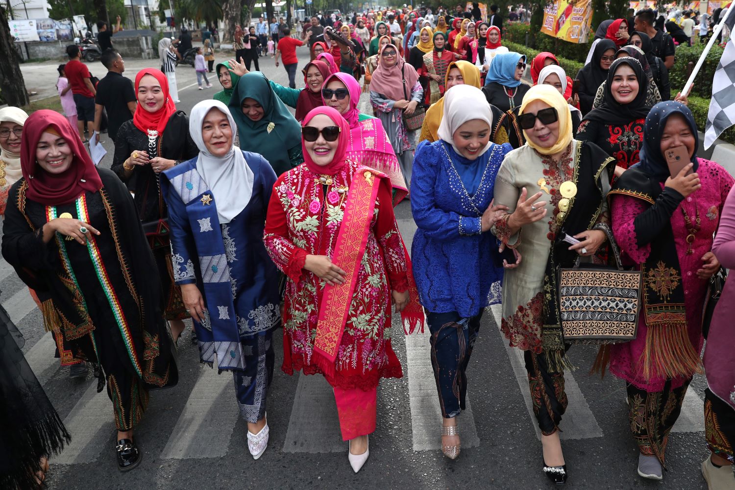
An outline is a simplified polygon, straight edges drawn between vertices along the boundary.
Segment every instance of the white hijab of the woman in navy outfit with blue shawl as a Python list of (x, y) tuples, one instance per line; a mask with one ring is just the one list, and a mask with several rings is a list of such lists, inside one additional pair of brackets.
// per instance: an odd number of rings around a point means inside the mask
[(250, 202), (253, 195), (254, 173), (240, 148), (234, 144), (229, 152), (222, 157), (212, 155), (204, 145), (201, 136), (201, 126), (210, 109), (219, 109), (229, 120), (232, 128), (232, 140), (237, 134), (237, 125), (230, 114), (227, 106), (220, 101), (201, 101), (189, 115), (189, 132), (194, 143), (199, 148), (199, 156), (196, 160), (196, 170), (207, 182), (212, 194), (215, 195), (217, 215), (220, 224), (229, 223), (232, 218), (239, 215)]

